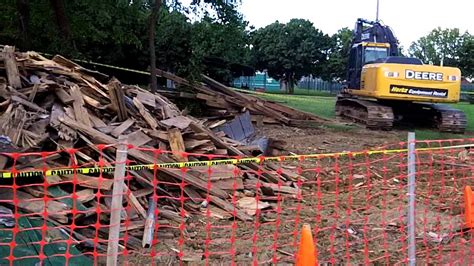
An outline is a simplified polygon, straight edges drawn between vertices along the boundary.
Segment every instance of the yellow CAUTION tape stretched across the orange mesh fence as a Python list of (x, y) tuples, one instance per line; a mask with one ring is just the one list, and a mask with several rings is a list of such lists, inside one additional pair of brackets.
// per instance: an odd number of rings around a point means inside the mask
[[(455, 145), (446, 147), (431, 147), (431, 148), (418, 148), (417, 152), (422, 151), (433, 151), (433, 150), (449, 150), (449, 149), (460, 149), (460, 148), (471, 148), (474, 144), (466, 145)], [(290, 156), (279, 156), (279, 157), (252, 157), (252, 158), (240, 158), (240, 159), (223, 159), (223, 160), (208, 160), (208, 161), (196, 161), (196, 162), (175, 162), (175, 163), (159, 163), (159, 164), (139, 164), (139, 165), (127, 165), (125, 168), (129, 171), (141, 171), (141, 170), (159, 170), (161, 169), (182, 169), (191, 167), (203, 167), (203, 166), (216, 166), (216, 165), (240, 165), (248, 163), (263, 163), (263, 162), (281, 162), (291, 160), (304, 160), (304, 159), (322, 159), (327, 157), (336, 156), (360, 156), (360, 155), (376, 155), (376, 154), (396, 154), (408, 152), (408, 149), (392, 149), (392, 150), (373, 150), (373, 151), (361, 151), (361, 152), (336, 152), (336, 153), (322, 153), (322, 154), (309, 154), (309, 155), (290, 155)], [(48, 170), (26, 170), (26, 171), (6, 171), (0, 172), (0, 178), (22, 178), (22, 177), (41, 177), (41, 176), (63, 176), (63, 175), (74, 175), (74, 174), (107, 174), (113, 173), (115, 167), (75, 167), (75, 168), (58, 168)]]

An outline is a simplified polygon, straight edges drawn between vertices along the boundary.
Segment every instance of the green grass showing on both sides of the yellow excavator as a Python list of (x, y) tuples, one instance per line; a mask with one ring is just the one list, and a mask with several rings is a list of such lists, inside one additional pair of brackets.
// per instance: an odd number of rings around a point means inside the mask
[[(334, 105), (336, 98), (334, 96), (304, 96), (304, 95), (286, 95), (286, 94), (258, 94), (259, 97), (283, 103), (290, 107), (310, 112), (321, 117), (335, 118)], [(458, 103), (452, 105), (466, 113), (468, 118), (467, 132), (464, 135), (441, 133), (429, 129), (415, 129), (417, 139), (452, 139), (473, 137), (474, 134), (474, 105), (469, 103)]]

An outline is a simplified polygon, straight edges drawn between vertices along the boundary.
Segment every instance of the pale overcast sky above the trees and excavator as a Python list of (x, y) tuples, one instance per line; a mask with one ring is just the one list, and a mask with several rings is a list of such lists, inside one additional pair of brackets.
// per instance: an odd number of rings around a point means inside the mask
[[(255, 27), (275, 20), (311, 20), (328, 34), (353, 29), (357, 18), (375, 20), (377, 0), (243, 0), (245, 19)], [(474, 33), (474, 0), (380, 0), (380, 19), (405, 47), (433, 28), (460, 28)]]

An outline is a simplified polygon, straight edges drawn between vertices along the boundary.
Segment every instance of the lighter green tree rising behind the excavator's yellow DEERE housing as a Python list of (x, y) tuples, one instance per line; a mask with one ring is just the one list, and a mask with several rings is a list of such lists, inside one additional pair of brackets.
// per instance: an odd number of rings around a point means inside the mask
[(456, 28), (441, 29), (438, 27), (427, 36), (412, 43), (409, 53), (425, 63), (440, 65), (443, 62), (443, 65), (458, 66), (460, 49), (469, 36), (469, 33), (461, 34)]

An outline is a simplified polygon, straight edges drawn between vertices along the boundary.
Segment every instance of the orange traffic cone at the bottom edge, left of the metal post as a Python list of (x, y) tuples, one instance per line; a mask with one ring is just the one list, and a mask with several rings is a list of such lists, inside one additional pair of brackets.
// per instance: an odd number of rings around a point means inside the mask
[(316, 258), (316, 246), (311, 234), (311, 226), (304, 224), (301, 230), (300, 246), (296, 254), (296, 266), (314, 266), (318, 264)]

